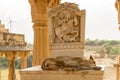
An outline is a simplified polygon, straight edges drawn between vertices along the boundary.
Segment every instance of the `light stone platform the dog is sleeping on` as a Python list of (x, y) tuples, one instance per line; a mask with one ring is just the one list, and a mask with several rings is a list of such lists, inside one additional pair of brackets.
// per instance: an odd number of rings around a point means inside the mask
[(101, 70), (48, 71), (40, 66), (20, 70), (20, 80), (103, 80), (104, 67)]

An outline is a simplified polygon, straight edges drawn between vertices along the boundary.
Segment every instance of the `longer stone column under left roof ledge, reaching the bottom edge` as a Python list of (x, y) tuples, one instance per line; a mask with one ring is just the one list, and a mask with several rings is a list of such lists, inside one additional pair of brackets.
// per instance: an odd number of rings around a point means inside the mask
[(16, 52), (8, 51), (5, 53), (5, 55), (8, 60), (8, 68), (9, 68), (8, 80), (16, 80), (15, 66), (14, 66), (14, 59), (16, 56)]

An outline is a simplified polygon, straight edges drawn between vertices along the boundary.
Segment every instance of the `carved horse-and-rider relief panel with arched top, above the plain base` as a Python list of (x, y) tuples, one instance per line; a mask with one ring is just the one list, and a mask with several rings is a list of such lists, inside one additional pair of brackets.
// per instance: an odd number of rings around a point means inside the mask
[(81, 11), (77, 4), (63, 3), (48, 13), (50, 43), (81, 41)]

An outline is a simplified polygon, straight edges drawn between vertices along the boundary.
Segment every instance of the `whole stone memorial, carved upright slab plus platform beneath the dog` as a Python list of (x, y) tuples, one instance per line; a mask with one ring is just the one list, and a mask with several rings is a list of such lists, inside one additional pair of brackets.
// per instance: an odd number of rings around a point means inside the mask
[[(51, 57), (83, 57), (85, 10), (74, 3), (63, 3), (47, 11)], [(50, 63), (54, 67), (55, 64)], [(103, 73), (104, 68), (65, 71), (42, 70), (41, 66), (35, 66), (20, 70), (20, 77), (21, 80), (103, 80)]]

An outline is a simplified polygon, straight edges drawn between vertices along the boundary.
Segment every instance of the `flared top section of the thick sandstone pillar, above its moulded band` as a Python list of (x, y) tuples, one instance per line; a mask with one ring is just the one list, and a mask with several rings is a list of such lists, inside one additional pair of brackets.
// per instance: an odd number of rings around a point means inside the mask
[(31, 4), (32, 21), (35, 24), (47, 21), (47, 0), (29, 0)]

